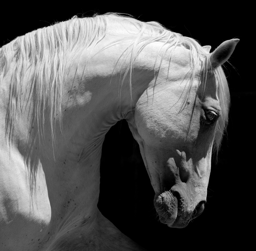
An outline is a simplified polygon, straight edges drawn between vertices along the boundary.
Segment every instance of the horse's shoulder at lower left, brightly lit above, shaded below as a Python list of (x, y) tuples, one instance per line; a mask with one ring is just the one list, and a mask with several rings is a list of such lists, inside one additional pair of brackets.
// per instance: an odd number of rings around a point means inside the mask
[(43, 172), (38, 168), (31, 194), (28, 170), (19, 151), (5, 144), (0, 151), (0, 250), (34, 250), (33, 243), (41, 238), (51, 218)]

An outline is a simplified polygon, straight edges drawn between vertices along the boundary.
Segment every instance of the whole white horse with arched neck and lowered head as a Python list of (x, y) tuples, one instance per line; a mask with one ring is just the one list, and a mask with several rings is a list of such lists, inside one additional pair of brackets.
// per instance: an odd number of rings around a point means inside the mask
[[(0, 49), (0, 249), (144, 250), (97, 208), (106, 132), (126, 119), (162, 223), (185, 227), (206, 201), (229, 90), (195, 40), (117, 14), (74, 17)], [(109, 195), (115, 205), (115, 191)]]

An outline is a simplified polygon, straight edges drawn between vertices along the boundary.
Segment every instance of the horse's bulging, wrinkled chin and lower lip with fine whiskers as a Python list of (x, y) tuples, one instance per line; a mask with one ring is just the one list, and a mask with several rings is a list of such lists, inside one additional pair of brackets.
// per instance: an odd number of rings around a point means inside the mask
[(154, 205), (159, 215), (159, 220), (169, 227), (183, 228), (188, 221), (182, 219), (179, 201), (170, 191), (165, 191), (160, 195), (155, 195)]

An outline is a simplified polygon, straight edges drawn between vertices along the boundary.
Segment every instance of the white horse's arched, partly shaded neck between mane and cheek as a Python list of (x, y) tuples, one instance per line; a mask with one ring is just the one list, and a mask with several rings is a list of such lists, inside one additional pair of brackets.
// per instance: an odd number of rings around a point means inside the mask
[[(148, 76), (154, 77), (153, 67), (150, 75), (148, 71), (144, 72), (145, 68), (141, 69), (142, 63), (138, 61), (133, 72), (132, 96), (129, 80), (120, 87), (123, 76), (115, 66), (123, 50), (118, 45), (103, 50), (92, 56), (86, 67), (88, 58), (85, 53), (85, 56), (77, 58), (78, 67), (74, 64), (70, 70), (63, 90), (62, 128), (57, 130), (54, 151), (49, 145), (48, 150), (45, 149), (47, 154), (44, 152), (42, 156), (46, 181), (49, 180), (47, 188), (51, 205), (59, 201), (59, 207), (63, 208), (76, 197), (79, 201), (76, 207), (81, 204), (83, 214), (92, 213), (97, 205), (104, 136), (111, 126), (135, 107), (136, 100), (147, 88)], [(51, 136), (48, 137), (45, 141), (51, 142)], [(59, 211), (56, 208), (56, 215)]]

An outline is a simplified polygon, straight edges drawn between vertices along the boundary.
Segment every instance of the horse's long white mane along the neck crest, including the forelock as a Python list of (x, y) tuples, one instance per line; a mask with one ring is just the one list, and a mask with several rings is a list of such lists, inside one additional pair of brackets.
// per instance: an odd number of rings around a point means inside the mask
[[(124, 29), (111, 30), (109, 23), (121, 23)], [(21, 99), (24, 97), (22, 93), (25, 93), (25, 100), (33, 102), (34, 122), (37, 122), (38, 125), (44, 121), (45, 108), (50, 109), (52, 136), (54, 137), (54, 119), (57, 114), (61, 115), (62, 86), (70, 67), (74, 60), (81, 55), (81, 51), (90, 46), (94, 48), (106, 34), (119, 34), (119, 36), (116, 36), (114, 43), (106, 44), (105, 47), (130, 41), (130, 45), (125, 51), (129, 66), (124, 76), (124, 78), (130, 77), (130, 84), (134, 60), (143, 47), (156, 41), (162, 42), (163, 46), (167, 45), (162, 54), (163, 58), (168, 48), (185, 46), (191, 51), (191, 81), (187, 92), (189, 95), (196, 66), (202, 62), (202, 58), (206, 58), (205, 51), (196, 40), (165, 29), (157, 22), (145, 23), (117, 13), (85, 18), (74, 16), (65, 22), (27, 33), (1, 47), (0, 84), (4, 82), (7, 73), (11, 76), (6, 130), (9, 128), (11, 132), (15, 129), (15, 118), (18, 115), (17, 112), (22, 111), (23, 100)], [(209, 66), (209, 60), (205, 60), (202, 64), (204, 74), (211, 70)], [(29, 83), (24, 79), (28, 72)], [(222, 68), (218, 67), (212, 72), (219, 83), (218, 92), (222, 110), (215, 134), (215, 149), (218, 150), (227, 125), (230, 98)], [(122, 83), (121, 81), (120, 84)]]

